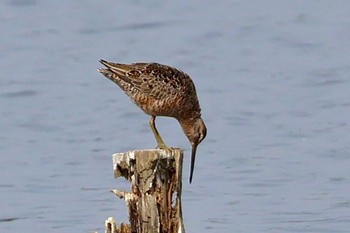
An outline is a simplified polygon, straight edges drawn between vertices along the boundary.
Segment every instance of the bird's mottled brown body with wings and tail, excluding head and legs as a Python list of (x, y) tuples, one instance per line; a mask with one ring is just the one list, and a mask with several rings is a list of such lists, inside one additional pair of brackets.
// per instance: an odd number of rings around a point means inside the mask
[(175, 118), (200, 115), (193, 81), (181, 70), (158, 63), (101, 63), (106, 68), (99, 71), (147, 114)]

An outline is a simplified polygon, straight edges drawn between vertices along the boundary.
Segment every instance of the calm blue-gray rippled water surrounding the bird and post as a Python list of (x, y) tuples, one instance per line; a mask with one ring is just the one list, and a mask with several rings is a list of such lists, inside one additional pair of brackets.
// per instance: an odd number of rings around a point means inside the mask
[(103, 232), (127, 221), (111, 155), (153, 148), (104, 58), (189, 73), (208, 127), (187, 232), (347, 233), (349, 1), (0, 2), (0, 232)]

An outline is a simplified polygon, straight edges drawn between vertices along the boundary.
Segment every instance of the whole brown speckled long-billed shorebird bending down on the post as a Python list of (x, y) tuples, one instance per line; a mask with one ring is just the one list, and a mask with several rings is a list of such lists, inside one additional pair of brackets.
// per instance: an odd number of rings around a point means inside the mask
[(178, 120), (191, 146), (189, 182), (192, 183), (197, 146), (207, 135), (195, 85), (183, 71), (159, 63), (120, 64), (100, 60), (97, 69), (117, 84), (130, 99), (150, 115), (149, 125), (159, 149), (170, 150), (160, 136), (155, 119), (158, 116)]

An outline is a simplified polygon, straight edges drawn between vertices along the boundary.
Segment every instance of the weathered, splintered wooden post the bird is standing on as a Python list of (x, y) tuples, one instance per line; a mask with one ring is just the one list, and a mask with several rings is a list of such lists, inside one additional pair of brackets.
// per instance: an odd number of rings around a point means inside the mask
[(185, 233), (182, 210), (181, 149), (135, 150), (113, 155), (114, 177), (131, 182), (131, 191), (112, 190), (129, 208), (130, 224), (105, 223), (106, 233)]

